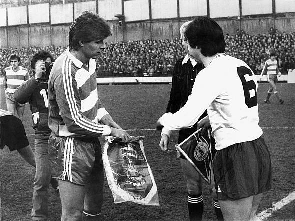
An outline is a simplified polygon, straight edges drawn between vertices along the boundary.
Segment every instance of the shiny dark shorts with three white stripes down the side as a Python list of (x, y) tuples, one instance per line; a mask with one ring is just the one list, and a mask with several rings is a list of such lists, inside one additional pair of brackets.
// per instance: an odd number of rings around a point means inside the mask
[(48, 143), (53, 178), (78, 185), (99, 180), (103, 162), (98, 138), (62, 137), (51, 133)]

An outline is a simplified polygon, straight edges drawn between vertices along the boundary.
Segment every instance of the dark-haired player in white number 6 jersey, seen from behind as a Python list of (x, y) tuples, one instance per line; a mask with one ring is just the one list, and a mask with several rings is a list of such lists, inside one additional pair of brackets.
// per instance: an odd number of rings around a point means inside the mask
[(262, 193), (271, 188), (270, 154), (258, 125), (255, 75), (245, 62), (224, 53), (223, 31), (213, 19), (196, 18), (185, 36), (188, 53), (206, 68), (196, 76), (186, 104), (174, 114), (165, 113), (157, 127), (192, 127), (207, 109), (217, 149), (215, 189), (224, 220), (254, 220)]

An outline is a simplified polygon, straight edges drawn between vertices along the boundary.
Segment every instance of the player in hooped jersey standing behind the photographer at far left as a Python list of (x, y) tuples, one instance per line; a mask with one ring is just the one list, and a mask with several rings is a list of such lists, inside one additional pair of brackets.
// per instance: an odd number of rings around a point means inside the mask
[(4, 69), (4, 92), (6, 97), (7, 110), (18, 116), (23, 122), (25, 104), (20, 104), (14, 99), (14, 93), (18, 86), (29, 79), (27, 69), (20, 66), (21, 59), (18, 55), (12, 54), (8, 58), (11, 66)]

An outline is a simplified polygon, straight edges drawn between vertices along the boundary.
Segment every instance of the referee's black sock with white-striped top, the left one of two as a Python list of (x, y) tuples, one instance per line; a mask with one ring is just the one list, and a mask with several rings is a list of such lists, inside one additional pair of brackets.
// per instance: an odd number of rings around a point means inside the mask
[(188, 214), (190, 221), (201, 221), (204, 211), (203, 193), (187, 196)]

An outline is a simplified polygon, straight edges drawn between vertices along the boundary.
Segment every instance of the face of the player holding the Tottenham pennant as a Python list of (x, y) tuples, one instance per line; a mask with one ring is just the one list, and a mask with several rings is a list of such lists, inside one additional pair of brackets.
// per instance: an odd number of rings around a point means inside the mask
[(82, 53), (88, 59), (98, 58), (105, 48), (104, 40), (95, 40), (83, 44)]

